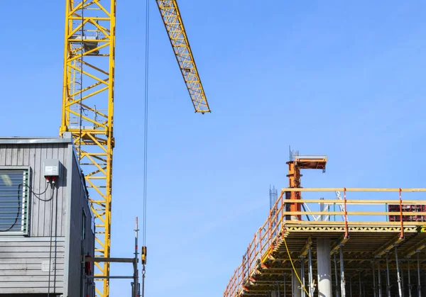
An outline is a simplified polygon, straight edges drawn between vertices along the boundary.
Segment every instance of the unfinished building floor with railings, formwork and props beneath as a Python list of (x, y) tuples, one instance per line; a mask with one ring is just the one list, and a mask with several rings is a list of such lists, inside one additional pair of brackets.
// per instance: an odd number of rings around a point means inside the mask
[[(286, 199), (293, 191), (300, 198)], [(421, 296), (426, 286), (425, 191), (282, 189), (224, 297)], [(329, 275), (318, 276), (318, 240), (329, 246)], [(331, 282), (328, 295), (318, 290), (324, 277)]]

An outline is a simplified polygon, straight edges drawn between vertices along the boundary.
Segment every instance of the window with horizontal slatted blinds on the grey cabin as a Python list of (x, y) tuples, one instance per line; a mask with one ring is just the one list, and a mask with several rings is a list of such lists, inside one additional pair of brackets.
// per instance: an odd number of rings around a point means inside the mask
[(0, 169), (0, 235), (28, 234), (28, 169)]

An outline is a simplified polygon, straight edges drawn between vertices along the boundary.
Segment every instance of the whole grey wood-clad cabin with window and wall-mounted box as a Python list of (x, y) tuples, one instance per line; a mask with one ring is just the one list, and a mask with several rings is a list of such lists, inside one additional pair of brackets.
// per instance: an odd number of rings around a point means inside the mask
[(94, 225), (72, 139), (0, 138), (0, 297), (93, 297), (83, 254)]

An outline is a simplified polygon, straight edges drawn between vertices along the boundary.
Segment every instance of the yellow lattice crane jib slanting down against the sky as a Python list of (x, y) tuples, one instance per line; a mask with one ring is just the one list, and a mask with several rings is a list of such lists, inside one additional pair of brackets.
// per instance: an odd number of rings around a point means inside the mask
[(192, 56), (190, 43), (180, 16), (178, 3), (175, 0), (156, 0), (156, 2), (163, 17), (165, 30), (167, 30), (176, 60), (178, 60), (180, 72), (182, 72), (183, 79), (194, 104), (195, 112), (210, 112), (209, 103), (207, 103), (197, 66)]

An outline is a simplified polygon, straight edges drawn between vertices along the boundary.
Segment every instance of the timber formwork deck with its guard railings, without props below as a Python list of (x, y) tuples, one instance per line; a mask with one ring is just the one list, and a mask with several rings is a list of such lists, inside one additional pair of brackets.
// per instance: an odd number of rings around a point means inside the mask
[[(337, 188), (340, 189), (340, 188)], [(345, 199), (342, 200), (324, 200), (324, 199), (285, 199), (286, 191), (311, 191), (311, 189), (286, 188), (281, 192), (280, 197), (269, 212), (268, 219), (255, 233), (253, 240), (249, 244), (247, 252), (244, 254), (242, 264), (234, 271), (234, 275), (229, 280), (228, 286), (224, 291), (224, 297), (234, 296), (263, 296), (267, 293), (269, 286), (279, 281), (278, 276), (282, 276), (285, 271), (290, 272), (293, 268), (290, 261), (295, 263), (298, 257), (305, 257), (312, 245), (312, 237), (329, 237), (334, 242), (335, 252), (340, 253), (341, 261), (341, 282), (344, 288), (344, 278), (346, 272), (358, 273), (360, 267), (371, 271), (371, 262), (377, 258), (383, 257), (398, 245), (398, 254), (400, 257), (407, 257), (417, 249), (425, 247), (426, 233), (421, 232), (426, 222), (404, 221), (405, 215), (412, 215), (410, 212), (400, 212), (400, 222), (366, 221), (362, 218), (371, 215), (373, 212), (347, 211), (348, 205), (364, 204), (386, 206), (388, 203), (398, 201), (400, 206), (404, 204), (425, 204), (425, 200), (403, 201), (400, 195), (395, 195), (394, 199), (388, 200), (346, 200), (347, 189), (343, 188)], [(318, 191), (319, 189), (315, 189)], [(381, 189), (350, 189), (350, 191), (373, 191)], [(332, 189), (320, 189), (320, 191), (335, 191)], [(426, 189), (383, 189), (384, 192), (424, 192)], [(398, 196), (398, 197), (396, 197)], [(398, 199), (398, 200), (397, 200)], [(344, 203), (344, 211), (335, 212), (337, 215), (343, 215), (346, 221), (302, 221), (286, 220), (288, 214), (305, 215), (306, 213), (325, 215), (325, 211), (291, 211), (287, 203)], [(386, 216), (388, 211), (376, 211), (376, 215)], [(393, 213), (394, 214), (394, 213)], [(420, 213), (424, 215), (423, 213)], [(348, 216), (353, 215), (349, 221)], [(403, 223), (401, 223), (403, 222)], [(401, 236), (403, 235), (403, 236)], [(415, 247), (416, 250), (413, 249)], [(288, 254), (288, 251), (290, 254)], [(395, 254), (398, 256), (398, 254)], [(291, 259), (290, 259), (291, 255)], [(344, 264), (343, 264), (344, 259)], [(407, 269), (409, 265), (386, 263), (390, 269)], [(421, 267), (425, 267), (422, 260)], [(366, 264), (365, 264), (366, 263)], [(300, 267), (299, 267), (300, 268)], [(297, 268), (297, 270), (299, 269)], [(378, 269), (385, 268), (378, 264)], [(346, 270), (346, 272), (343, 271)], [(365, 272), (365, 271), (364, 271)], [(364, 274), (363, 274), (364, 275)], [(349, 277), (350, 279), (350, 277)], [(343, 280), (343, 282), (342, 282)], [(366, 280), (367, 282), (369, 280)], [(370, 291), (369, 286), (364, 284), (363, 290)], [(367, 287), (366, 287), (367, 286)], [(283, 286), (282, 286), (283, 287)], [(284, 288), (283, 288), (284, 289)], [(357, 288), (355, 289), (357, 290)], [(344, 293), (342, 292), (342, 296)]]

